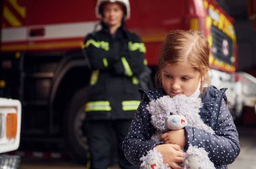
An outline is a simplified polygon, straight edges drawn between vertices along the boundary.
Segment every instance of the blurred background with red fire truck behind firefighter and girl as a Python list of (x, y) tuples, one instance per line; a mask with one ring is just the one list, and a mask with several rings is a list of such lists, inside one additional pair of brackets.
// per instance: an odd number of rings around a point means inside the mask
[[(256, 1), (130, 4), (127, 27), (146, 44), (152, 78), (170, 30), (205, 32), (211, 46), (212, 84), (228, 87), (228, 107), (240, 134), (241, 154), (229, 168), (256, 168)], [(91, 72), (81, 48), (86, 34), (97, 29), (95, 5), (96, 0), (0, 1), (0, 97), (22, 103), (20, 147), (5, 159), (18, 157), (19, 168), (90, 164), (84, 104)], [(143, 87), (153, 87), (152, 82)], [(115, 138), (113, 152), (110, 168), (117, 168)]]

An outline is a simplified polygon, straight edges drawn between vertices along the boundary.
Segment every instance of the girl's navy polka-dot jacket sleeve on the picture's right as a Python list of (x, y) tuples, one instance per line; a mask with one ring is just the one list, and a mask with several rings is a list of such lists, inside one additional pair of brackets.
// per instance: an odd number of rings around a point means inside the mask
[(220, 104), (215, 133), (210, 134), (195, 127), (185, 127), (187, 146), (198, 146), (208, 152), (208, 156), (216, 166), (234, 162), (240, 153), (238, 132), (232, 115), (222, 99)]

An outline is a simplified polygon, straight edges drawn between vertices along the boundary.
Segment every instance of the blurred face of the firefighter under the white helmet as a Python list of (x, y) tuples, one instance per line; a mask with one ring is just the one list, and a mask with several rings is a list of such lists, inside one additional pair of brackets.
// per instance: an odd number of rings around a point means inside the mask
[(103, 6), (103, 21), (109, 27), (120, 26), (123, 15), (123, 9), (118, 3), (106, 3)]

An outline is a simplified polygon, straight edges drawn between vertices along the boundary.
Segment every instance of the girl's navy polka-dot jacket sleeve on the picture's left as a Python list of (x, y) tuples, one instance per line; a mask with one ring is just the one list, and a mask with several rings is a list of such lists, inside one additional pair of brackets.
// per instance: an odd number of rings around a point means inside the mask
[(140, 166), (139, 158), (146, 156), (148, 151), (158, 144), (162, 144), (162, 142), (155, 142), (150, 139), (152, 125), (148, 116), (148, 110), (146, 110), (147, 102), (144, 98), (137, 109), (137, 113), (135, 113), (135, 118), (131, 123), (127, 137), (123, 141), (125, 157), (134, 166)]

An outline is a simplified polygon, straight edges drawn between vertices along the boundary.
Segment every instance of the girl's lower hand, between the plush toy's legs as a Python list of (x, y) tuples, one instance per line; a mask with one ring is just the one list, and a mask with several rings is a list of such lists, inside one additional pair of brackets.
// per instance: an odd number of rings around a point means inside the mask
[(162, 154), (164, 163), (168, 164), (172, 169), (181, 169), (178, 163), (183, 163), (185, 153), (177, 144), (161, 144), (155, 147)]

